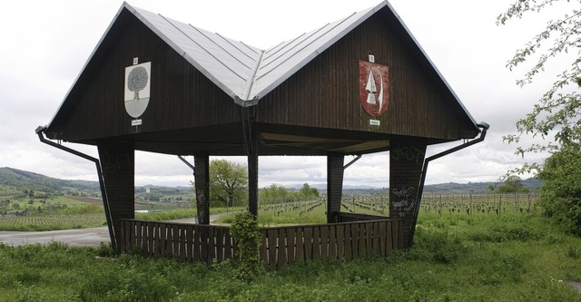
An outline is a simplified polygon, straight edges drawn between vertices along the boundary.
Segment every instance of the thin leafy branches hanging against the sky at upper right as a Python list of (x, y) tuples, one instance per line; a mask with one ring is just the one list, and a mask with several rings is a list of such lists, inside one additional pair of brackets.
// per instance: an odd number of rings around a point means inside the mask
[[(565, 0), (517, 0), (507, 9), (504, 14), (498, 15), (497, 24), (506, 24), (513, 18), (521, 18), (529, 12), (541, 12)], [(566, 1), (567, 3), (569, 1)], [(538, 33), (532, 41), (528, 42), (522, 49), (507, 63), (507, 68), (513, 70), (521, 63), (529, 60), (536, 60), (536, 64), (517, 81), (517, 84), (524, 86), (533, 82), (537, 73), (542, 72), (547, 62), (562, 54), (576, 54), (571, 59), (570, 67), (557, 75), (553, 86), (542, 95), (539, 101), (533, 106), (533, 110), (517, 121), (517, 133), (504, 137), (508, 143), (518, 143), (523, 135), (541, 137), (543, 139), (553, 137), (552, 141), (546, 143), (534, 143), (528, 147), (517, 147), (517, 154), (525, 156), (526, 153), (547, 151), (553, 153), (559, 151), (566, 145), (579, 146), (581, 142), (581, 120), (578, 114), (581, 112), (581, 95), (572, 90), (572, 86), (581, 85), (581, 63), (580, 49), (581, 36), (581, 10), (577, 2), (572, 5), (571, 12), (562, 18), (552, 20), (547, 23), (546, 29)], [(547, 43), (552, 45), (546, 51), (543, 47)], [(537, 54), (541, 52), (541, 54)], [(511, 172), (533, 172), (542, 170), (542, 164), (533, 162), (526, 163), (522, 167)]]

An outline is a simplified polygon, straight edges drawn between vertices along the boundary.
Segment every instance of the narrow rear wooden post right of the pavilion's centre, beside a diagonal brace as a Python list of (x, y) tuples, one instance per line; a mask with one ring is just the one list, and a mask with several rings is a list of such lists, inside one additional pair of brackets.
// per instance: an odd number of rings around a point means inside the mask
[(345, 155), (339, 153), (327, 155), (327, 223), (337, 222), (333, 212), (341, 209), (344, 159)]

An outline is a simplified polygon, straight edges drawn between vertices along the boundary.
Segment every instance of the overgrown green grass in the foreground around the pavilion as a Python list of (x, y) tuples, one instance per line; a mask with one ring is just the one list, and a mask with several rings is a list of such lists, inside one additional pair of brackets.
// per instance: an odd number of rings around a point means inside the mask
[(264, 268), (249, 284), (230, 261), (0, 244), (0, 301), (581, 301), (566, 284), (581, 281), (579, 247), (535, 215), (422, 213), (409, 251)]

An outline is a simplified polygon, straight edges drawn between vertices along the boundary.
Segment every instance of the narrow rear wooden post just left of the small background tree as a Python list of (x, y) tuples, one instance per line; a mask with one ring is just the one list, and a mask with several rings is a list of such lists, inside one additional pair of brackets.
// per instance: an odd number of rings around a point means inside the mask
[(193, 162), (198, 223), (210, 224), (210, 156), (208, 153), (195, 154)]

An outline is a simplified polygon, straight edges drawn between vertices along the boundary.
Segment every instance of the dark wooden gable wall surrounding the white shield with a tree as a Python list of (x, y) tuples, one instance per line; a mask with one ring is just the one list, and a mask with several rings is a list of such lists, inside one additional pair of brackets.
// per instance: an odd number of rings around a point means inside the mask
[[(123, 15), (124, 14), (124, 15)], [(58, 127), (65, 141), (91, 142), (135, 132), (159, 132), (240, 122), (240, 107), (161, 38), (123, 11), (109, 32), (115, 41), (99, 49), (90, 64), (94, 73), (81, 77), (83, 93), (71, 93), (72, 110)], [(123, 24), (123, 25), (122, 25)], [(151, 62), (151, 98), (139, 128), (125, 112), (125, 67)], [(76, 85), (74, 89), (76, 88)], [(49, 132), (51, 130), (49, 129)]]

